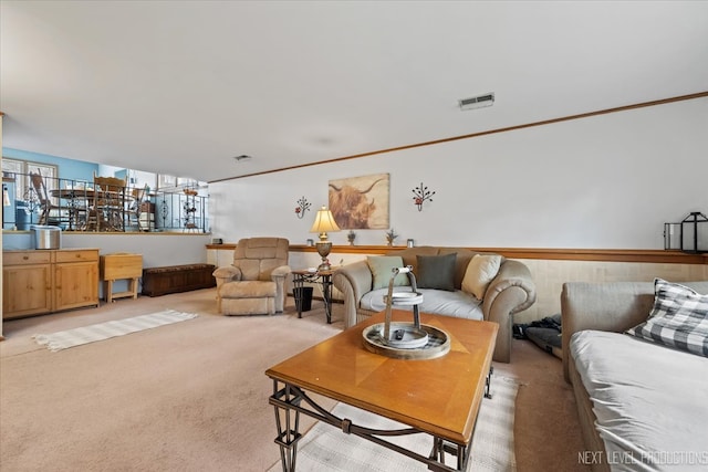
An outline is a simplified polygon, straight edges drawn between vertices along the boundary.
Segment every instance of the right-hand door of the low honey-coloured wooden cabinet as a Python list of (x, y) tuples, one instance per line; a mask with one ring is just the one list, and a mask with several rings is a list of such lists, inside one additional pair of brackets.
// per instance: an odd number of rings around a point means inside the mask
[(54, 310), (98, 306), (98, 262), (54, 265)]

